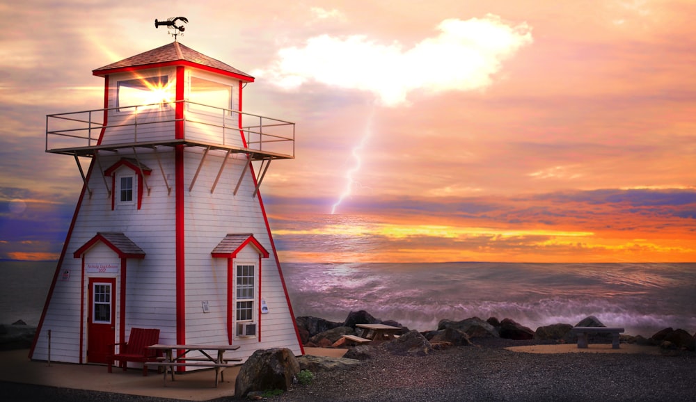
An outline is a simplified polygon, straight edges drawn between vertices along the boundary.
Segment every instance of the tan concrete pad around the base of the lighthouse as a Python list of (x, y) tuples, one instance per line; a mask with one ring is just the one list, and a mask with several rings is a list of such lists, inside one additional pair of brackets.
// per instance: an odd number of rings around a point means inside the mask
[[(345, 352), (345, 349), (305, 348), (308, 355), (340, 357)], [(47, 362), (29, 360), (28, 355), (27, 349), (0, 351), (0, 381), (186, 401), (209, 401), (235, 394), (235, 380), (241, 368), (237, 366), (226, 369), (225, 380), (221, 381), (218, 387), (215, 387), (213, 370), (179, 374), (174, 382), (168, 378), (165, 386), (163, 375), (156, 371), (150, 371), (147, 377), (143, 377), (141, 369), (122, 371), (114, 367), (113, 373), (107, 373), (103, 364), (52, 362), (49, 366)]]

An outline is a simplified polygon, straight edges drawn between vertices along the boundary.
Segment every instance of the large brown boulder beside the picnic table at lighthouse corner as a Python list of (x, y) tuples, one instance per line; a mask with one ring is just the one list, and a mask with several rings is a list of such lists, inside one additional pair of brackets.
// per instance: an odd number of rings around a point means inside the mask
[(299, 362), (290, 349), (259, 349), (242, 364), (235, 382), (235, 397), (266, 389), (287, 391), (299, 371)]

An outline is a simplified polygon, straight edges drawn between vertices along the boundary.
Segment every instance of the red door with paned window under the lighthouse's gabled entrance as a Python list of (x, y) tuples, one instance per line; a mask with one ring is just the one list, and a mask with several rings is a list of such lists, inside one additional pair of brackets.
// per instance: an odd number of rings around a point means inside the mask
[(116, 279), (89, 279), (87, 362), (106, 363), (109, 344), (116, 339)]

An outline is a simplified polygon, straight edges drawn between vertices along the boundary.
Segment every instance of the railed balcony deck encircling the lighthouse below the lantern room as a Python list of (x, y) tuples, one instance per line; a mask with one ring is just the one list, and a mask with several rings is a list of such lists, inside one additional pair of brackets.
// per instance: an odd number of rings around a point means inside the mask
[[(184, 103), (184, 118), (177, 119), (179, 102)], [(183, 124), (183, 138), (175, 138), (177, 123)], [(292, 122), (177, 101), (47, 115), (45, 150), (94, 156), (100, 150), (185, 145), (242, 152), (253, 159), (292, 159), (294, 136)]]

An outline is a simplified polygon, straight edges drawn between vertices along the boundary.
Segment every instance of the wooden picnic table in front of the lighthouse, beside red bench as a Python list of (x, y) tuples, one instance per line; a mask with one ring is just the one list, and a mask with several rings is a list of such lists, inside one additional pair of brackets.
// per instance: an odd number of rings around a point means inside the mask
[[(237, 364), (229, 362), (239, 362), (242, 359), (225, 357), (227, 351), (236, 351), (239, 346), (232, 345), (162, 345), (156, 344), (148, 346), (155, 351), (163, 351), (164, 356), (157, 362), (146, 362), (150, 366), (164, 367), (164, 385), (167, 383), (167, 371), (171, 373), (174, 380), (175, 367), (212, 367), (215, 369), (215, 387), (218, 385), (218, 377), (224, 381), (223, 371), (227, 367)], [(187, 353), (198, 351), (199, 356), (187, 357)]]

